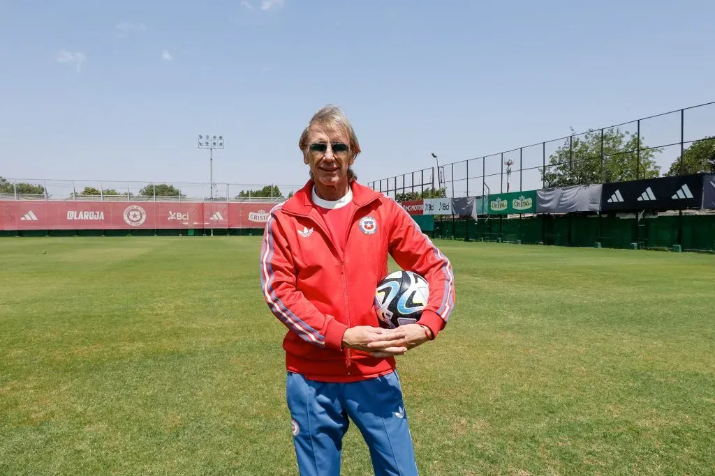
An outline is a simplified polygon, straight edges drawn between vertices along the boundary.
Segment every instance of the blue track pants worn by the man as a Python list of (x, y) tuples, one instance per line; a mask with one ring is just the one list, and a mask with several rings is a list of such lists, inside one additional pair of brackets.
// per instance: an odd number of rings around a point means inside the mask
[(415, 476), (415, 450), (397, 373), (325, 383), (288, 373), (286, 397), (301, 476), (339, 476), (350, 420), (365, 438), (376, 476)]

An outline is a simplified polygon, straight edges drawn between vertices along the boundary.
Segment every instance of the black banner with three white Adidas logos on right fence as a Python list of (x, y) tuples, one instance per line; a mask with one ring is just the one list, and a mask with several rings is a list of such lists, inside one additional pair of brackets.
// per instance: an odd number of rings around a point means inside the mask
[(700, 208), (702, 200), (701, 175), (648, 178), (604, 183), (601, 210), (681, 210)]

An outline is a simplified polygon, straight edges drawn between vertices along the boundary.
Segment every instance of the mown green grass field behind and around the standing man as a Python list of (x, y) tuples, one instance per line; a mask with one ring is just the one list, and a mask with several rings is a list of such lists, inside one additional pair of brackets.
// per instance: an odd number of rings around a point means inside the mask
[[(457, 308), (398, 362), (421, 474), (714, 474), (715, 256), (436, 243)], [(297, 474), (259, 251), (0, 240), (0, 475)]]

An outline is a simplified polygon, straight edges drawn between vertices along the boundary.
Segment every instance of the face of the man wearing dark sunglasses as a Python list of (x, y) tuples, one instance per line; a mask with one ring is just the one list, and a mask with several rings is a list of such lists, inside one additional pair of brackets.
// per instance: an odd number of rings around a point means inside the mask
[(347, 183), (347, 168), (354, 161), (347, 132), (340, 128), (312, 127), (304, 162), (316, 184), (336, 187)]

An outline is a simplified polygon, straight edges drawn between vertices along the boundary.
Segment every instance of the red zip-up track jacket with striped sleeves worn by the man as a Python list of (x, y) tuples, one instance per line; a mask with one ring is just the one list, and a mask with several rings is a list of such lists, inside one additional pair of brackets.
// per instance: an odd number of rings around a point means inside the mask
[(395, 369), (395, 358), (342, 348), (347, 328), (379, 325), (373, 302), (388, 274), (388, 253), (428, 281), (419, 323), (435, 337), (455, 304), (449, 260), (402, 206), (358, 183), (351, 187), (355, 214), (344, 253), (312, 203), (312, 181), (272, 209), (263, 235), (261, 288), (271, 312), (289, 329), (283, 340), (287, 370), (312, 380), (352, 382)]

